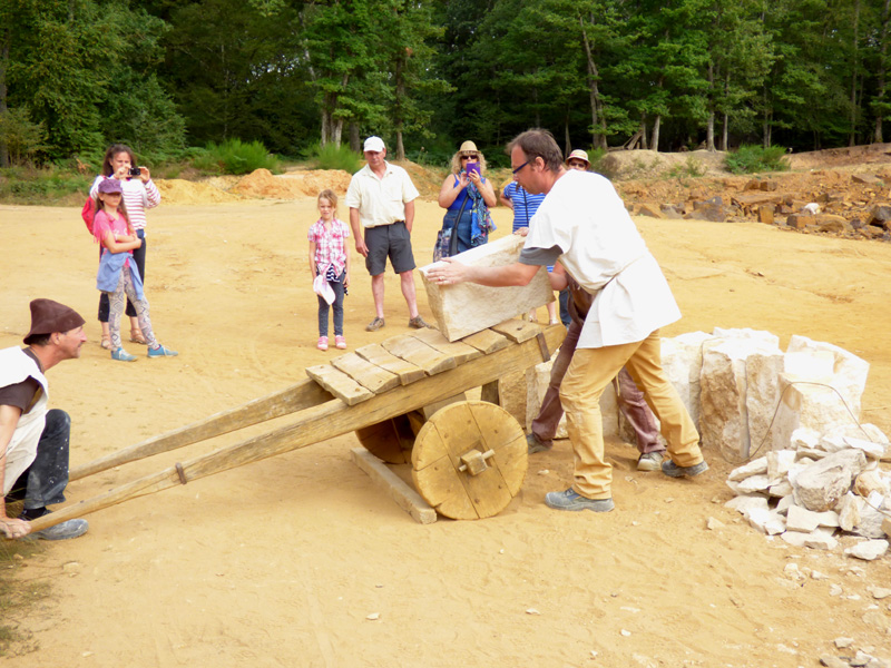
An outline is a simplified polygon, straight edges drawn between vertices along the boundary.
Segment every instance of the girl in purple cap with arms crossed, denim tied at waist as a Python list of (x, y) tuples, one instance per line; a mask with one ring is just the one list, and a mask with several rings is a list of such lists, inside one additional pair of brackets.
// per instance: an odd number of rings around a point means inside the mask
[[(151, 321), (148, 318), (148, 302), (143, 294), (143, 281), (133, 261), (133, 249), (143, 240), (136, 236), (127, 210), (121, 202), (120, 181), (116, 178), (102, 180), (96, 193), (96, 215), (92, 219), (92, 234), (102, 245), (99, 259), (99, 273), (96, 287), (107, 293), (110, 301), (108, 325), (111, 335), (111, 358), (120, 362), (134, 362), (120, 345), (120, 316), (127, 297), (136, 307), (139, 328), (148, 343), (149, 357), (172, 357), (176, 351), (164, 347), (155, 340)], [(126, 293), (126, 295), (125, 295)]]

